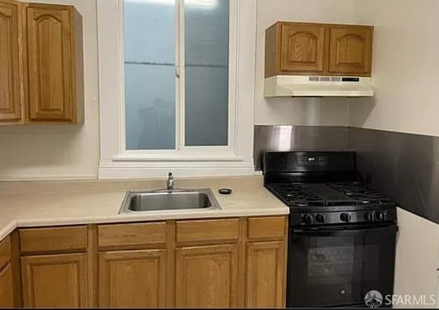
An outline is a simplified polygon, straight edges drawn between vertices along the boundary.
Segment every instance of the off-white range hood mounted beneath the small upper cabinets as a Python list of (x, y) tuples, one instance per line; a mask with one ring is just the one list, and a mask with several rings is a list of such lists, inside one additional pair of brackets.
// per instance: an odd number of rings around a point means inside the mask
[(265, 78), (264, 97), (373, 97), (371, 78), (274, 75)]

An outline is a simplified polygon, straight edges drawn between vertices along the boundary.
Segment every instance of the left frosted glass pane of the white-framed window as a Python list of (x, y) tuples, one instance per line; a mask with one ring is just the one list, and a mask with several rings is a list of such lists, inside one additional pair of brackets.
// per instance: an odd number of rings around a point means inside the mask
[(175, 4), (124, 0), (127, 150), (176, 147)]

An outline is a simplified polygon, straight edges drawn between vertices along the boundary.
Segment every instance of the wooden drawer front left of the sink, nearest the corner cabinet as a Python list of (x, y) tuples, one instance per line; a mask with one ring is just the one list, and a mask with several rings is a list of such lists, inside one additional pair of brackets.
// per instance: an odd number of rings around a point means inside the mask
[(83, 251), (86, 247), (87, 226), (20, 230), (21, 252)]

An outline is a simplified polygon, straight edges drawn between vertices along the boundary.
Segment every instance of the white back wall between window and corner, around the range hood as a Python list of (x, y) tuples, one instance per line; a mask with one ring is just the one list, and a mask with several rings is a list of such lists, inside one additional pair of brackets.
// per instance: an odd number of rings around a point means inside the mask
[(276, 21), (352, 23), (353, 0), (258, 0), (255, 123), (258, 125), (346, 126), (343, 98), (263, 97), (265, 29)]

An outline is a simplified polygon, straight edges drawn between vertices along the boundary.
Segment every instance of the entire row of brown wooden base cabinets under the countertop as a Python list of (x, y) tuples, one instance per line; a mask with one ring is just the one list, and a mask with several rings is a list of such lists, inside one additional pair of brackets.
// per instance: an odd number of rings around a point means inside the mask
[(16, 296), (26, 308), (285, 307), (287, 217), (20, 228), (15, 236), (14, 246), (0, 243), (0, 307), (21, 306)]

